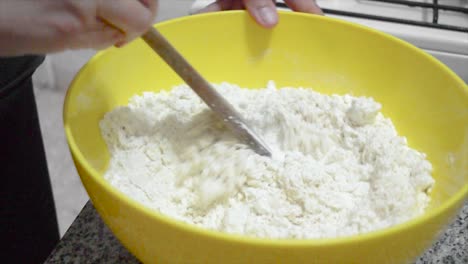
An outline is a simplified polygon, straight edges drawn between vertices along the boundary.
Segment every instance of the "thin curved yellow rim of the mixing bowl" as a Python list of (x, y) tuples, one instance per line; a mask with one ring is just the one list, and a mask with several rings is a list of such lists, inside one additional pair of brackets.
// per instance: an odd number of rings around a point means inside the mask
[[(400, 40), (392, 35), (389, 35), (384, 32), (380, 32), (378, 30), (366, 27), (366, 26), (361, 26), (359, 24), (355, 24), (352, 22), (348, 22), (345, 20), (337, 19), (337, 18), (331, 18), (331, 17), (326, 17), (326, 16), (318, 16), (318, 15), (313, 15), (313, 14), (306, 14), (306, 13), (298, 13), (298, 12), (289, 12), (289, 11), (278, 11), (280, 13), (280, 18), (283, 16), (303, 16), (303, 17), (308, 17), (312, 19), (324, 19), (324, 20), (329, 20), (334, 23), (338, 24), (344, 24), (347, 26), (351, 27), (356, 27), (364, 31), (372, 32), (374, 34), (380, 35), (381, 37), (384, 37), (388, 40), (397, 42), (400, 45), (406, 46), (407, 48), (412, 49), (414, 52), (419, 53), (420, 55), (426, 57), (426, 59), (429, 59), (432, 63), (435, 63), (439, 68), (441, 68), (442, 71), (445, 73), (448, 73), (450, 77), (455, 79), (456, 82), (458, 82), (462, 87), (465, 87), (465, 93), (468, 96), (468, 85), (465, 84), (465, 82), (458, 76), (456, 75), (452, 70), (450, 70), (446, 65), (432, 57), (431, 55), (425, 53), (424, 51), (420, 50), (419, 48), (415, 47), (414, 45), (407, 43), (403, 40)], [(172, 23), (178, 23), (180, 21), (185, 21), (185, 20), (191, 20), (191, 19), (198, 19), (200, 17), (208, 17), (208, 16), (226, 16), (226, 15), (239, 15), (239, 14), (244, 14), (246, 13), (245, 11), (242, 10), (235, 10), (235, 11), (223, 11), (223, 12), (213, 12), (213, 13), (205, 13), (205, 14), (197, 14), (197, 15), (192, 15), (192, 16), (184, 16), (176, 19), (171, 19), (167, 20), (164, 22), (160, 22), (155, 24), (155, 26), (163, 26), (163, 25), (169, 25)], [(158, 222), (162, 222), (165, 225), (171, 226), (172, 228), (180, 229), (185, 232), (193, 233), (194, 235), (200, 235), (204, 236), (206, 238), (211, 238), (211, 239), (217, 239), (217, 240), (224, 240), (225, 242), (230, 242), (230, 243), (243, 243), (243, 244), (250, 244), (253, 246), (263, 246), (263, 247), (325, 247), (325, 246), (339, 246), (339, 245), (344, 245), (344, 244), (349, 244), (349, 243), (356, 243), (356, 242), (364, 242), (364, 241), (369, 241), (369, 240), (374, 240), (378, 239), (381, 237), (385, 236), (391, 236), (395, 233), (399, 232), (404, 232), (405, 230), (411, 229), (417, 225), (424, 225), (427, 223), (430, 219), (435, 218), (441, 214), (444, 214), (445, 211), (449, 210), (449, 208), (455, 206), (456, 203), (464, 200), (466, 196), (468, 196), (468, 183), (465, 184), (463, 188), (461, 188), (460, 191), (455, 193), (451, 198), (449, 198), (446, 202), (442, 203), (439, 205), (437, 208), (434, 210), (430, 211), (429, 213), (424, 213), (421, 216), (415, 217), (409, 221), (387, 227), (384, 229), (380, 230), (375, 230), (371, 231), (368, 233), (364, 234), (359, 234), (359, 235), (353, 235), (353, 236), (347, 236), (347, 237), (337, 237), (337, 238), (312, 238), (312, 239), (270, 239), (270, 238), (257, 238), (257, 237), (250, 237), (250, 236), (245, 236), (245, 235), (239, 235), (239, 234), (230, 234), (230, 233), (224, 233), (221, 231), (215, 231), (215, 230), (210, 230), (206, 229), (203, 227), (199, 227), (193, 224), (185, 223), (181, 220), (177, 220), (175, 218), (172, 218), (170, 216), (166, 216), (162, 213), (159, 213), (149, 207), (146, 207), (145, 205), (141, 204), (140, 202), (137, 202), (136, 200), (128, 197), (121, 191), (119, 191), (117, 188), (113, 187), (108, 181), (102, 177), (100, 173), (98, 173), (90, 164), (86, 162), (86, 159), (84, 158), (83, 154), (79, 150), (73, 136), (71, 129), (69, 125), (67, 124), (67, 121), (69, 120), (68, 117), (68, 104), (70, 101), (70, 91), (72, 90), (71, 88), (75, 85), (75, 82), (77, 80), (77, 77), (81, 74), (82, 71), (84, 71), (88, 65), (93, 64), (96, 60), (99, 59), (100, 56), (102, 56), (104, 53), (106, 53), (107, 50), (103, 50), (98, 52), (96, 55), (94, 55), (76, 74), (75, 78), (71, 82), (67, 94), (65, 96), (65, 103), (63, 107), (63, 120), (64, 120), (64, 129), (65, 129), (65, 134), (67, 137), (67, 141), (69, 144), (69, 148), (71, 153), (75, 156), (75, 159), (80, 162), (80, 165), (84, 168), (85, 171), (89, 173), (92, 178), (101, 188), (105, 189), (106, 192), (108, 192), (110, 195), (113, 197), (117, 198), (121, 202), (125, 203), (127, 206), (132, 207), (135, 210), (138, 210), (142, 213), (145, 214), (146, 217), (149, 217), (151, 219), (154, 219)], [(80, 177), (82, 177), (80, 175)]]

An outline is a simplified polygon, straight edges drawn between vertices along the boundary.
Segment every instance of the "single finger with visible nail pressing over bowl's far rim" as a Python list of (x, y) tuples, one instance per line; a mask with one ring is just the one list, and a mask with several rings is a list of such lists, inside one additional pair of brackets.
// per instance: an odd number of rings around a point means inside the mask
[(278, 12), (271, 0), (244, 0), (250, 15), (262, 26), (271, 28), (278, 23)]

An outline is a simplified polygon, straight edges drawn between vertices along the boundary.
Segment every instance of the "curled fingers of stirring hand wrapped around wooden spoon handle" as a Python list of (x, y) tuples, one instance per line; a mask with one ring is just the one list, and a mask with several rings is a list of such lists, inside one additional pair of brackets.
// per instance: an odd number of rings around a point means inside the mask
[[(97, 15), (107, 23), (125, 32), (130, 41), (148, 30), (155, 13), (155, 0), (99, 0)], [(145, 6), (146, 5), (146, 6)]]

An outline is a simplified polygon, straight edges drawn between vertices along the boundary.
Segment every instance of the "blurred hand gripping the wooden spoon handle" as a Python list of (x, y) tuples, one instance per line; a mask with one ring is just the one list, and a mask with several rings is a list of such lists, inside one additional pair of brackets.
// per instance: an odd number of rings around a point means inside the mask
[(157, 0), (0, 0), (0, 56), (128, 42), (152, 25)]

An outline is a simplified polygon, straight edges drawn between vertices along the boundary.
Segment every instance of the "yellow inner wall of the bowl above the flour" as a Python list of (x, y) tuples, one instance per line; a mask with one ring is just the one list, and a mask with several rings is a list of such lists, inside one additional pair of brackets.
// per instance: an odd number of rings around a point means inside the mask
[[(364, 27), (331, 18), (281, 13), (263, 29), (244, 12), (197, 15), (157, 27), (210, 82), (243, 87), (312, 87), (327, 94), (373, 97), (409, 145), (434, 166), (428, 213), (468, 191), (468, 89), (423, 51)], [(141, 40), (95, 56), (67, 94), (64, 120), (77, 163), (102, 178), (109, 153), (98, 123), (143, 91), (182, 81)], [(121, 199), (127, 199), (120, 195)]]

